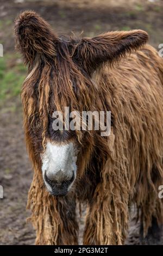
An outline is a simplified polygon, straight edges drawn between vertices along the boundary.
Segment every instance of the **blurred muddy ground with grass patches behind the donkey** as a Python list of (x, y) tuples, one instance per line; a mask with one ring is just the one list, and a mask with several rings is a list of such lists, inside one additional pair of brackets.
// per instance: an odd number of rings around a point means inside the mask
[[(0, 0), (0, 245), (32, 245), (35, 232), (26, 223), (27, 194), (32, 181), (22, 128), (21, 85), (26, 77), (15, 50), (14, 19), (23, 10), (35, 10), (59, 35), (94, 36), (106, 31), (144, 29), (150, 44), (163, 43), (162, 0)], [(80, 220), (81, 230), (83, 220)], [(131, 221), (127, 244), (138, 244), (138, 225)], [(82, 231), (80, 232), (80, 237)]]

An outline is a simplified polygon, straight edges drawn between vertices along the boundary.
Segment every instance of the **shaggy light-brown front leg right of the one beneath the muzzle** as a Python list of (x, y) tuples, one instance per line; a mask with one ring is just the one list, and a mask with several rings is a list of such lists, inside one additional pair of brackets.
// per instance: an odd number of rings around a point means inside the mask
[[(119, 191), (120, 192), (120, 191)], [(98, 191), (87, 210), (84, 245), (122, 245), (128, 230), (128, 204), (120, 193)], [(117, 198), (116, 198), (117, 196)]]

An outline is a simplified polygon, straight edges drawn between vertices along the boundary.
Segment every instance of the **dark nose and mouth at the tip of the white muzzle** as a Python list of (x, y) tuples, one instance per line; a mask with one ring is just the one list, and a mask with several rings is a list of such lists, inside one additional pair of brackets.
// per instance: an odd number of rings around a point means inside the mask
[(72, 182), (74, 181), (74, 173), (71, 179), (62, 179), (57, 181), (55, 179), (49, 179), (45, 173), (45, 181), (51, 187), (49, 191), (53, 196), (65, 196), (68, 193), (68, 189)]

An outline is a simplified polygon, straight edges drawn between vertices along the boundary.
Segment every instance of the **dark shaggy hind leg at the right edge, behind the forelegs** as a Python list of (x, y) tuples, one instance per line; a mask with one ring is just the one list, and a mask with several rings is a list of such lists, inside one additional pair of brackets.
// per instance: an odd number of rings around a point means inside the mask
[(162, 169), (152, 169), (153, 186), (148, 186), (146, 198), (141, 203), (140, 242), (147, 245), (160, 243), (163, 230), (163, 199), (159, 198), (162, 185)]

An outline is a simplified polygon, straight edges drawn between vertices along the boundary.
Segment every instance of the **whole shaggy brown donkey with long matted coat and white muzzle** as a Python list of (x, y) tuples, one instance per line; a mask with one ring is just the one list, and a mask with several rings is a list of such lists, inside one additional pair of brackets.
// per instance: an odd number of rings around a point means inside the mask
[[(34, 167), (27, 208), (36, 245), (77, 245), (76, 205), (86, 204), (84, 245), (122, 245), (131, 204), (140, 237), (159, 239), (163, 222), (163, 61), (145, 31), (60, 38), (34, 11), (15, 21), (28, 65), (24, 131)], [(54, 130), (54, 111), (110, 111), (100, 130)], [(106, 122), (106, 120), (105, 120)]]

